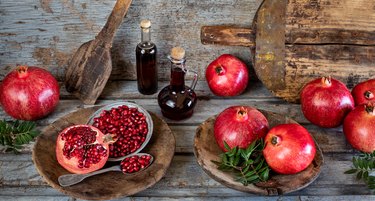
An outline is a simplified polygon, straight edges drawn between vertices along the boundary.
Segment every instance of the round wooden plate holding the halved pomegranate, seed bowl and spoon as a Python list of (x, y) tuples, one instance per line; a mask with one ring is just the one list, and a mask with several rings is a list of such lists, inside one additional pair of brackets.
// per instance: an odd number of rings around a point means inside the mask
[[(154, 131), (149, 144), (142, 151), (154, 156), (149, 168), (133, 175), (122, 172), (107, 172), (85, 179), (70, 187), (61, 187), (57, 178), (69, 174), (56, 160), (55, 144), (58, 133), (74, 124), (86, 124), (90, 115), (100, 107), (81, 109), (68, 114), (49, 125), (37, 138), (32, 158), (39, 174), (53, 188), (72, 197), (88, 200), (115, 199), (133, 195), (158, 182), (166, 173), (176, 147), (175, 137), (162, 119), (150, 113)], [(119, 164), (120, 162), (111, 164)]]

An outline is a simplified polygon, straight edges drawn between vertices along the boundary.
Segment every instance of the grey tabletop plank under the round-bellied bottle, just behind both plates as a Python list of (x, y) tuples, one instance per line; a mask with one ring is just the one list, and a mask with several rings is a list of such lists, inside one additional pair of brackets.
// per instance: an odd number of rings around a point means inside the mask
[[(157, 103), (157, 100), (154, 99), (127, 99), (124, 98), (122, 100), (128, 100), (136, 102), (137, 104), (141, 105), (145, 109), (157, 114), (159, 117), (162, 117), (160, 107)], [(105, 105), (114, 103), (119, 100), (99, 100), (97, 102), (98, 105)], [(300, 105), (297, 104), (287, 104), (285, 102), (280, 101), (267, 101), (263, 99), (255, 99), (255, 100), (246, 100), (246, 99), (213, 99), (213, 100), (199, 100), (195, 112), (191, 118), (181, 120), (181, 121), (174, 121), (169, 120), (162, 117), (165, 121), (167, 121), (170, 125), (186, 125), (186, 124), (200, 124), (208, 117), (219, 114), (225, 108), (233, 106), (233, 105), (249, 105), (259, 109), (272, 111), (275, 113), (280, 113), (282, 115), (289, 116), (294, 120), (298, 121), (302, 124), (308, 124), (309, 122), (305, 119), (300, 109)], [(50, 114), (47, 118), (38, 120), (38, 125), (48, 125), (52, 123), (56, 119), (76, 111), (80, 108), (89, 107), (87, 105), (83, 105), (79, 100), (61, 100), (59, 105), (57, 106), (56, 110)], [(7, 114), (5, 114), (4, 110), (0, 110), (0, 117), (3, 119), (11, 119)]]

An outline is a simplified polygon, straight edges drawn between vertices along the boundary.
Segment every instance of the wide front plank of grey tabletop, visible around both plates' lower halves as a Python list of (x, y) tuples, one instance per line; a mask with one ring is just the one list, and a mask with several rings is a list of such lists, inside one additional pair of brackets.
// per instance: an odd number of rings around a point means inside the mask
[[(345, 175), (343, 172), (351, 167), (352, 154), (333, 154), (325, 156), (325, 164), (319, 178), (299, 192), (291, 195), (369, 195), (370, 191), (361, 182), (358, 182), (354, 175)], [(29, 154), (17, 156), (0, 156), (1, 174), (1, 195), (17, 195), (16, 192), (7, 191), (11, 187), (41, 187), (48, 185), (36, 172)], [(4, 174), (4, 173), (7, 174)], [(195, 179), (191, 179), (195, 178)], [(349, 193), (345, 192), (352, 188)], [(319, 190), (320, 189), (320, 190)], [(325, 189), (325, 190), (323, 190)], [(27, 190), (30, 195), (43, 195), (43, 191), (33, 193)], [(197, 165), (193, 155), (176, 155), (171, 167), (165, 177), (154, 187), (149, 188), (137, 196), (169, 196), (170, 192), (175, 196), (241, 196), (246, 193), (238, 192), (223, 187), (218, 182), (209, 178)], [(51, 195), (52, 191), (46, 191)], [(216, 194), (218, 193), (218, 194)], [(56, 194), (55, 194), (56, 195)]]

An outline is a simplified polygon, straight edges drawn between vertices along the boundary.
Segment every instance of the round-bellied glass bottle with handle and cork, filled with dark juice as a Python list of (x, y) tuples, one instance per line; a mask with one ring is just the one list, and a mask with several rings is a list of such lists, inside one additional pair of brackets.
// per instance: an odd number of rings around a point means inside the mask
[[(185, 50), (183, 48), (173, 48), (168, 58), (171, 62), (170, 85), (159, 92), (158, 103), (163, 116), (173, 120), (181, 120), (193, 114), (197, 103), (194, 88), (197, 84), (198, 74), (186, 69)], [(194, 73), (194, 79), (190, 87), (185, 85), (185, 75), (188, 72)]]

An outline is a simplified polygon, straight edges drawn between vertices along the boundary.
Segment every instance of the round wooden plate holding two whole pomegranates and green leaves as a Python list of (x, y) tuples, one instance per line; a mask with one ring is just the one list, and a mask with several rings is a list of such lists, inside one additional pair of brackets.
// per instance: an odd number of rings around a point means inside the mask
[[(296, 123), (294, 120), (268, 111), (261, 111), (266, 118), (270, 128), (283, 123)], [(196, 130), (194, 138), (194, 153), (199, 165), (214, 180), (221, 184), (243, 192), (259, 195), (281, 195), (300, 190), (311, 184), (318, 178), (323, 164), (323, 154), (316, 144), (317, 152), (312, 164), (304, 171), (294, 175), (273, 175), (267, 182), (250, 184), (244, 186), (233, 179), (233, 175), (217, 169), (212, 162), (220, 161), (219, 154), (222, 153), (214, 137), (214, 123), (216, 116), (208, 118)]]

